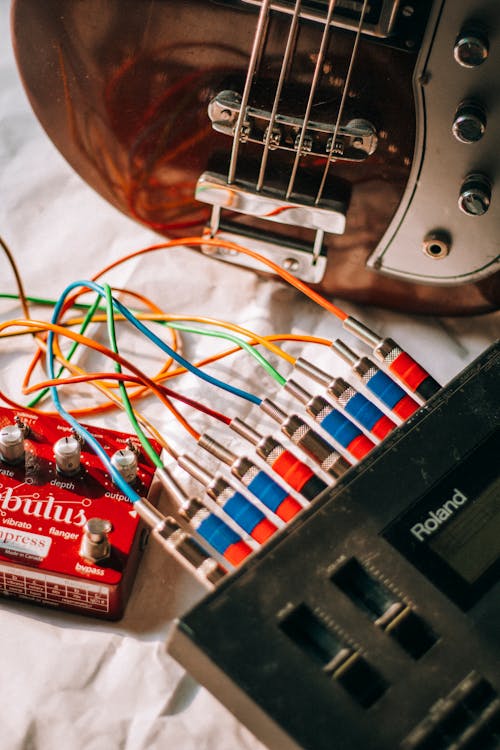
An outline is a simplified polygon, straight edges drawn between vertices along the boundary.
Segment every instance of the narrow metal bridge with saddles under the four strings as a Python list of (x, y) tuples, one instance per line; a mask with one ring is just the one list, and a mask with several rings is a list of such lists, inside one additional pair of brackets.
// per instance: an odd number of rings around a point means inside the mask
[[(241, 96), (236, 91), (221, 91), (208, 105), (208, 116), (213, 129), (230, 136), (236, 134), (240, 111)], [(269, 127), (272, 127), (270, 136)], [(362, 118), (339, 126), (335, 122), (308, 121), (302, 139), (303, 128), (304, 120), (301, 118), (277, 114), (271, 124), (269, 111), (247, 107), (239, 140), (242, 143), (267, 143), (271, 151), (281, 149), (296, 153), (300, 147), (302, 156), (357, 162), (365, 161), (375, 152), (378, 144), (375, 127)]]

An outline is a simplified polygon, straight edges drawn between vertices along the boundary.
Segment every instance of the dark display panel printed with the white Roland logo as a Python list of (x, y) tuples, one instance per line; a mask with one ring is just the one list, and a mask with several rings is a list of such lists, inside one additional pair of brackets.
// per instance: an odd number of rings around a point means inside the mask
[(464, 609), (499, 579), (499, 466), (497, 429), (384, 531)]

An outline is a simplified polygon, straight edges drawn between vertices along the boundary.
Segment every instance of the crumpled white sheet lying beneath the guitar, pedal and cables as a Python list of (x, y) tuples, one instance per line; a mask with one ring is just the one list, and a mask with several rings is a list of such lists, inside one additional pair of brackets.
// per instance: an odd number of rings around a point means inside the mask
[[(43, 1), (43, 0), (41, 0)], [(0, 232), (11, 245), (30, 294), (57, 296), (76, 278), (86, 278), (111, 258), (156, 237), (95, 195), (72, 172), (35, 120), (17, 74), (9, 43), (7, 0), (0, 3)], [(263, 333), (314, 332), (334, 338), (331, 316), (281, 284), (200, 258), (187, 250), (167, 251), (128, 264), (110, 277), (115, 285), (142, 291), (171, 312), (198, 312), (234, 320)], [(0, 291), (14, 291), (0, 255)], [(353, 310), (372, 327), (409, 345), (442, 381), (486, 348), (498, 335), (498, 317), (436, 320), (378, 310)], [(0, 303), (2, 319), (20, 313)], [(190, 339), (194, 358), (213, 343)], [(128, 351), (127, 351), (128, 350)], [(292, 349), (298, 353), (298, 349)], [(140, 353), (153, 367), (152, 352), (129, 339), (125, 352)], [(20, 375), (29, 360), (29, 341), (0, 349), (1, 387), (19, 396)], [(326, 369), (332, 355), (306, 348)], [(245, 355), (220, 365), (218, 373), (262, 393), (272, 382)], [(214, 406), (244, 416), (245, 404), (215, 396), (191, 376), (180, 385)], [(88, 391), (80, 400), (90, 401)], [(154, 404), (145, 411), (177, 447), (188, 438)], [(205, 418), (196, 418), (204, 429)], [(121, 415), (101, 420), (127, 430)], [(197, 592), (159, 549), (143, 559), (125, 618), (105, 624), (0, 601), (0, 747), (2, 750), (244, 750), (259, 743), (166, 654), (172, 618)]]

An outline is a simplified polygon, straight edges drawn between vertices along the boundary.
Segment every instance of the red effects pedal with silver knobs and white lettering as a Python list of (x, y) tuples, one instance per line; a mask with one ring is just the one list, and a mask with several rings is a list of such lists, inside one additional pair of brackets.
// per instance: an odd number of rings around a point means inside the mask
[[(146, 496), (154, 470), (136, 439), (88, 429)], [(116, 619), (145, 533), (128, 499), (71, 427), (0, 408), (0, 595)]]

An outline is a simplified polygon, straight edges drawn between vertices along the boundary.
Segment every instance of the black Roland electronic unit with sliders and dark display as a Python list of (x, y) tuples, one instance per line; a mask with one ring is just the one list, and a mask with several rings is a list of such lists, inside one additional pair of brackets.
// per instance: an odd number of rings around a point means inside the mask
[(500, 748), (498, 344), (176, 625), (275, 750)]

